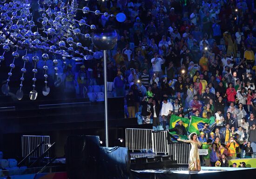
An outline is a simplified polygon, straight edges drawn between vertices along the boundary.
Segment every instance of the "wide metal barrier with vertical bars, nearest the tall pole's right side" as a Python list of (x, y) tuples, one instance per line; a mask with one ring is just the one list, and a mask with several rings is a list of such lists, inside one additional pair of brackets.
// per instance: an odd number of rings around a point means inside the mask
[(125, 130), (125, 145), (129, 150), (140, 151), (141, 149), (152, 149), (151, 133), (152, 129), (132, 129)]

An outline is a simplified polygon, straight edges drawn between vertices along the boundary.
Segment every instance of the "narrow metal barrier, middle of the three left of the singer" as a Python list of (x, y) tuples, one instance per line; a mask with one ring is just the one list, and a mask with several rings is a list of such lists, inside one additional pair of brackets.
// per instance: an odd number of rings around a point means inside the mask
[(164, 153), (169, 155), (167, 131), (152, 131), (152, 149), (155, 154)]

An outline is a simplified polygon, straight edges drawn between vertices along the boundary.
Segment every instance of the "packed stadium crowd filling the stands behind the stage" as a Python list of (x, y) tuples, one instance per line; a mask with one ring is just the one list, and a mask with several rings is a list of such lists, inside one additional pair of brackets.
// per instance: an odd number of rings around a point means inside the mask
[[(114, 96), (125, 98), (125, 117), (138, 117), (139, 123), (164, 130), (171, 114), (211, 118), (214, 124), (204, 124), (199, 136), (203, 148), (209, 149), (204, 157), (207, 166), (227, 165), (227, 157), (242, 157), (243, 150), (245, 157), (252, 156), (256, 151), (252, 0), (95, 0), (87, 5), (127, 15), (123, 23), (104, 15), (87, 17), (89, 22), (98, 21), (99, 28), (117, 29), (117, 45), (108, 52), (108, 89), (113, 86)], [(78, 75), (81, 84), (87, 79), (88, 86), (102, 85), (102, 64), (102, 59), (85, 61)], [(177, 134), (188, 134), (178, 127)]]

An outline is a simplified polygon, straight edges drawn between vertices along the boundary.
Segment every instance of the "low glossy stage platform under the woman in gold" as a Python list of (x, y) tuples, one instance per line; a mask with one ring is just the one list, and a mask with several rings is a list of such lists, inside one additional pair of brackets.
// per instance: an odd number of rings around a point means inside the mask
[(256, 168), (202, 167), (189, 172), (187, 167), (132, 170), (133, 179), (245, 179), (254, 178)]

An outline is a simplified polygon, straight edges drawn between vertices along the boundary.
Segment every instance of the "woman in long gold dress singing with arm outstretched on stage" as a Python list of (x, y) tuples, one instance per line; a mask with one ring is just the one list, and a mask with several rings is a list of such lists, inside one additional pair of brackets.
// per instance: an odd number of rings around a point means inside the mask
[(197, 139), (196, 133), (191, 133), (189, 135), (189, 140), (177, 140), (191, 144), (191, 150), (189, 152), (189, 171), (199, 172), (201, 170), (201, 164), (198, 153), (198, 146), (202, 146), (202, 143)]

